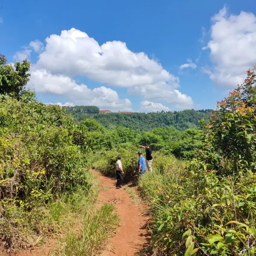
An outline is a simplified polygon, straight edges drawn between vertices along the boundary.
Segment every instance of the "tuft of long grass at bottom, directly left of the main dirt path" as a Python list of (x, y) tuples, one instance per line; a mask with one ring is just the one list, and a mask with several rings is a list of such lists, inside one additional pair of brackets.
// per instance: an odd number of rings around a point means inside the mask
[(80, 223), (79, 235), (70, 233), (59, 243), (59, 248), (53, 255), (94, 255), (104, 247), (105, 242), (117, 229), (118, 223), (119, 217), (113, 204), (104, 204), (92, 217), (85, 213)]

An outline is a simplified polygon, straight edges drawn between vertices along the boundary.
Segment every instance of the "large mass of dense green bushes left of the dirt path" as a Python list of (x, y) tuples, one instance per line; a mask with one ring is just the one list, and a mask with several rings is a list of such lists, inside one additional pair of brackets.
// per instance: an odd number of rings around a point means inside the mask
[(89, 195), (91, 141), (64, 110), (36, 101), (33, 93), (19, 100), (0, 95), (0, 232), (7, 248), (26, 248), (58, 232), (63, 204), (76, 211), (74, 192)]

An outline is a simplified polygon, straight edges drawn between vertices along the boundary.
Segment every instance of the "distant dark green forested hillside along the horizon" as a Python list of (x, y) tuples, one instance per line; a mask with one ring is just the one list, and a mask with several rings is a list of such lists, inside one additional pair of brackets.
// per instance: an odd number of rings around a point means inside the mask
[[(84, 108), (83, 108), (84, 107)], [(107, 129), (112, 129), (114, 126), (121, 125), (127, 128), (134, 128), (141, 131), (151, 131), (155, 127), (168, 127), (174, 126), (178, 130), (186, 130), (189, 128), (196, 129), (198, 127), (198, 121), (201, 118), (208, 120), (212, 109), (205, 110), (183, 110), (183, 111), (169, 111), (158, 113), (107, 113), (107, 114), (91, 114), (88, 111), (90, 106), (75, 106), (65, 107), (68, 113), (72, 114), (72, 117), (76, 121), (81, 121), (86, 118), (93, 118), (98, 123), (103, 125)], [(92, 109), (93, 106), (91, 106)], [(97, 109), (95, 109), (97, 111)]]

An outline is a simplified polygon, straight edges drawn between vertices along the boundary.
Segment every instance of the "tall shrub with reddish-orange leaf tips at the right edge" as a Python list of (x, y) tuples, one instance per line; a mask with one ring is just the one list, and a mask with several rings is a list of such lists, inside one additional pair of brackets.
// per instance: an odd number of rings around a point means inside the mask
[[(254, 68), (255, 70), (255, 68)], [(204, 158), (208, 168), (217, 168), (222, 157), (233, 169), (252, 168), (256, 160), (256, 85), (254, 70), (247, 71), (245, 82), (217, 102), (217, 111), (208, 124), (201, 121), (204, 131)]]

